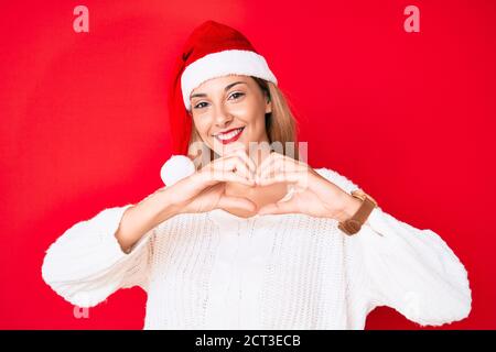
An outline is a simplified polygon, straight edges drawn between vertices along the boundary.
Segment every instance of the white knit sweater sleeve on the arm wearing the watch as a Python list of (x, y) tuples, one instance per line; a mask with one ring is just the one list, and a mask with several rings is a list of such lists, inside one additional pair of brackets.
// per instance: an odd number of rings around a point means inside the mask
[[(334, 170), (317, 172), (348, 194), (358, 188)], [(417, 229), (377, 207), (360, 231), (345, 239), (353, 272), (362, 275), (357, 280), (366, 286), (367, 312), (388, 306), (421, 326), (441, 326), (468, 316), (467, 272), (432, 230)]]

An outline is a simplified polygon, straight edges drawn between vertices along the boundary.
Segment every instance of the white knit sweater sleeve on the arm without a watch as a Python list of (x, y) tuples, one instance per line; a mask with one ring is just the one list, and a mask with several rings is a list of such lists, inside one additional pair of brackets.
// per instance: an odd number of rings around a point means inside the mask
[(154, 229), (129, 251), (122, 251), (115, 233), (126, 209), (108, 208), (66, 230), (45, 253), (44, 282), (68, 302), (94, 307), (119, 288), (147, 290)]

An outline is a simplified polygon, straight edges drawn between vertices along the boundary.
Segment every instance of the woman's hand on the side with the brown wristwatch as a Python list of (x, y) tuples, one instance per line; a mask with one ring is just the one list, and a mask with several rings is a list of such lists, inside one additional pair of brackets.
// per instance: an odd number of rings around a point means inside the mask
[(256, 183), (268, 186), (292, 184), (291, 199), (261, 207), (259, 215), (305, 213), (319, 218), (344, 220), (359, 207), (359, 200), (328, 182), (308, 164), (280, 153), (270, 153), (257, 169)]

